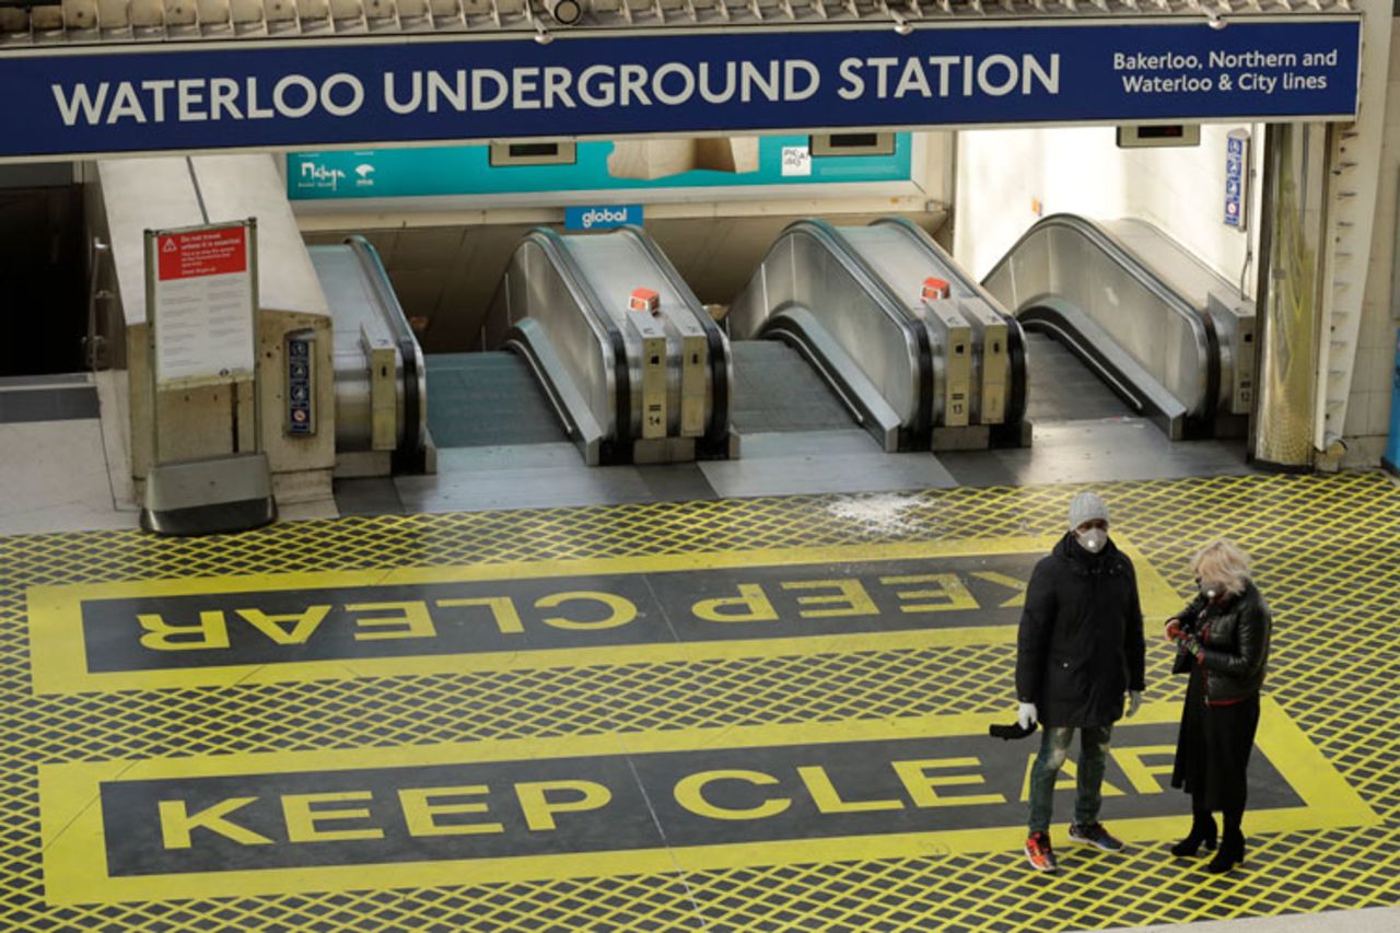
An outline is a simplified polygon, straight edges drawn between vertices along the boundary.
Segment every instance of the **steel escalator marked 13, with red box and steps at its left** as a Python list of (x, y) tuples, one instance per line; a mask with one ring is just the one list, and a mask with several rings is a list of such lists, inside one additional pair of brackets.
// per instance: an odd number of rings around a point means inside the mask
[(1019, 441), (1021, 329), (911, 223), (790, 226), (728, 325), (741, 434), (854, 424), (885, 452)]

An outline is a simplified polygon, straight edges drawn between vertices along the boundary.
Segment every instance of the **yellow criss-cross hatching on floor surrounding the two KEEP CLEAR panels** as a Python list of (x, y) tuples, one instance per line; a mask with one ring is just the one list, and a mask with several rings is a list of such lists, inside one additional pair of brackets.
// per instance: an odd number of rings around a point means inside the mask
[[(1019, 929), (1189, 922), (1400, 904), (1400, 489), (1372, 474), (1099, 483), (1114, 531), (1173, 586), (1194, 546), (1242, 542), (1277, 618), (1268, 692), (1380, 817), (1369, 829), (1252, 835), (1210, 877), (1161, 848), (1030, 877), (1019, 852), (678, 874), (307, 891), (157, 904), (43, 898), (41, 762), (372, 748), (1011, 709), (1012, 646), (875, 650), (80, 693), (29, 689), (24, 593), (293, 570), (1054, 534), (1078, 488), (914, 495), (893, 521), (860, 497), (347, 518), (231, 538), (0, 538), (0, 929)], [(879, 503), (865, 503), (878, 506)], [(1151, 633), (1149, 633), (1151, 635)], [(1175, 699), (1149, 653), (1148, 699)], [(1186, 800), (1182, 799), (1183, 813)], [(1246, 822), (1247, 831), (1247, 822)]]

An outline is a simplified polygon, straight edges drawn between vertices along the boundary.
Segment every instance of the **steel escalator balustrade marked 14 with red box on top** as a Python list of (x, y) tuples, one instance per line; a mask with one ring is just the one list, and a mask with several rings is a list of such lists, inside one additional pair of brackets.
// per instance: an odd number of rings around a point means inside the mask
[(529, 364), (591, 465), (731, 452), (728, 343), (640, 228), (531, 231), (497, 287), (486, 342)]

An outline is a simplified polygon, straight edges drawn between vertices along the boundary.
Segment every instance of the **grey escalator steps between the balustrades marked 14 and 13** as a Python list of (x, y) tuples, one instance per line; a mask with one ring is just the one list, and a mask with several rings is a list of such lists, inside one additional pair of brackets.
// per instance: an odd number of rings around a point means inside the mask
[(802, 354), (780, 340), (735, 340), (731, 420), (741, 434), (846, 430), (851, 415)]

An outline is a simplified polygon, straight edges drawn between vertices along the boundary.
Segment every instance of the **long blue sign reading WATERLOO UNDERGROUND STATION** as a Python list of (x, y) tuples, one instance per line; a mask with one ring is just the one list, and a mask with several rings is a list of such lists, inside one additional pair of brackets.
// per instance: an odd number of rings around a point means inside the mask
[(1358, 17), (0, 52), (0, 158), (846, 127), (1351, 119)]

